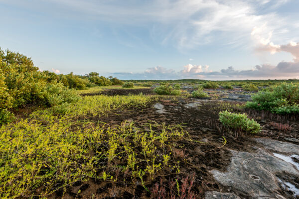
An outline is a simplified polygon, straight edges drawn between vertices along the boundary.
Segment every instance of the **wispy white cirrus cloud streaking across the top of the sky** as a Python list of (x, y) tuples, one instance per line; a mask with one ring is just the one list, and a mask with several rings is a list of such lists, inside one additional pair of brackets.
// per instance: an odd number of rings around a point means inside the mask
[(1, 1), (54, 16), (105, 21), (112, 26), (147, 25), (155, 40), (179, 49), (208, 43), (252, 46), (250, 32), (254, 27), (263, 27), (263, 34), (273, 32), (278, 43), (298, 38), (294, 30), (299, 19), (291, 20), (276, 10), (289, 0), (31, 0), (30, 4), (26, 0)]

